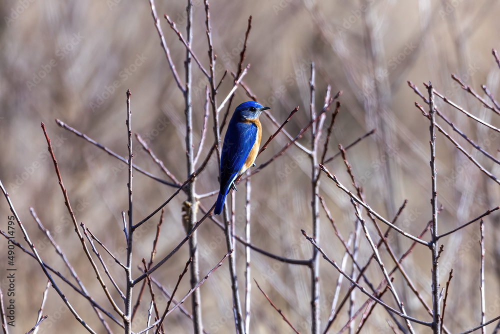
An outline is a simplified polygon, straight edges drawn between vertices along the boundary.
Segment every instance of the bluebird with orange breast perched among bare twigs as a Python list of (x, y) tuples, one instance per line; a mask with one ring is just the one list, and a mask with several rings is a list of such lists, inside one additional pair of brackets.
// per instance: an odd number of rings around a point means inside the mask
[(222, 145), (220, 155), (220, 191), (213, 213), (220, 214), (227, 192), (234, 180), (245, 172), (257, 157), (262, 126), (258, 120), (260, 113), (271, 109), (248, 101), (234, 110)]

